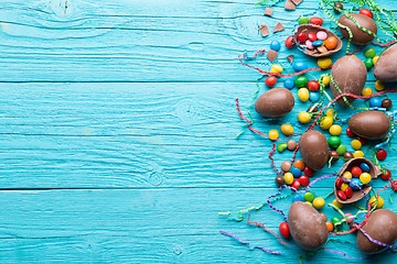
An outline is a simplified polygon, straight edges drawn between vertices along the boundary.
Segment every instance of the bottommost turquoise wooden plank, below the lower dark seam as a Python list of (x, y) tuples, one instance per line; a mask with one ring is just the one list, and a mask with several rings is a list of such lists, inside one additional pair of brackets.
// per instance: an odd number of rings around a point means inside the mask
[[(0, 257), (2, 263), (65, 260), (84, 263), (297, 263), (301, 254), (298, 248), (280, 246), (272, 234), (259, 228), (217, 216), (222, 210), (258, 205), (269, 195), (269, 190), (261, 188), (0, 191), (1, 200), (9, 201), (3, 202), (0, 216)], [(288, 201), (275, 204), (281, 209), (287, 205)], [(324, 211), (329, 216), (337, 215), (333, 209)], [(282, 218), (265, 207), (253, 212), (253, 220), (277, 230)], [(219, 230), (236, 233), (253, 245), (286, 254), (248, 251), (245, 245), (221, 235)], [(341, 239), (354, 241), (354, 235)], [(331, 243), (330, 249), (361, 256), (354, 244), (341, 249), (341, 244)], [(391, 261), (396, 255), (384, 253), (375, 260)], [(344, 261), (344, 257), (323, 252), (304, 263), (325, 261)]]

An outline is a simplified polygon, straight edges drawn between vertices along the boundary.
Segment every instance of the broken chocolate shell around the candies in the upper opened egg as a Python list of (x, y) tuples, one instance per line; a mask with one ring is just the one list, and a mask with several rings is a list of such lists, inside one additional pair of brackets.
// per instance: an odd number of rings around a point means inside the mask
[[(337, 35), (335, 35), (332, 31), (329, 31), (328, 29), (325, 28), (322, 28), (320, 25), (313, 25), (313, 24), (301, 24), (299, 25), (297, 29), (296, 29), (296, 32), (293, 33), (293, 40), (298, 40), (298, 35), (300, 33), (305, 33), (308, 34), (309, 32), (313, 32), (313, 33), (318, 33), (319, 31), (325, 31), (326, 32), (326, 35), (328, 37), (330, 36), (334, 36), (336, 37), (337, 40), (337, 44), (336, 44), (336, 47), (334, 50), (331, 50), (331, 51), (326, 51), (324, 53), (321, 53), (316, 50), (309, 50), (309, 48), (305, 48), (304, 50), (304, 54), (309, 55), (309, 56), (312, 56), (312, 57), (325, 57), (325, 56), (330, 56), (334, 53), (337, 53), (339, 51), (341, 51), (342, 46), (343, 46), (343, 43), (341, 41), (341, 38), (339, 38)], [(326, 48), (325, 48), (326, 50)]]

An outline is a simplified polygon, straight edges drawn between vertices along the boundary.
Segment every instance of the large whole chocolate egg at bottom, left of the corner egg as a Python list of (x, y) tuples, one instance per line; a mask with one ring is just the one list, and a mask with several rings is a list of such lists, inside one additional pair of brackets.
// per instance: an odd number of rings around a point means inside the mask
[(305, 250), (316, 250), (328, 240), (329, 231), (321, 215), (308, 204), (296, 201), (288, 211), (292, 239)]

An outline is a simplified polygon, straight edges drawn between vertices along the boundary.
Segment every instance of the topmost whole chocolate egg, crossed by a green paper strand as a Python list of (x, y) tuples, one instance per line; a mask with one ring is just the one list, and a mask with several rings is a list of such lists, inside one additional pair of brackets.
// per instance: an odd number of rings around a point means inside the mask
[[(351, 15), (364, 29), (373, 32), (375, 35), (377, 34), (377, 25), (373, 19), (361, 13), (350, 13), (348, 15)], [(345, 14), (341, 15), (337, 22), (344, 26), (347, 26), (352, 31), (352, 42), (355, 44), (366, 45), (375, 38), (372, 34), (358, 29), (356, 23)], [(339, 26), (339, 29), (344, 37), (350, 37), (347, 30), (343, 29), (342, 26)]]

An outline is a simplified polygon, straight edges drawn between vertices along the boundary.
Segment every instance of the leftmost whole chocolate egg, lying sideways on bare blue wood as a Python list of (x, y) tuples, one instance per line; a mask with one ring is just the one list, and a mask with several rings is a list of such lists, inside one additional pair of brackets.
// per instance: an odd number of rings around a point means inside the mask
[(289, 113), (294, 98), (286, 88), (272, 88), (264, 92), (255, 102), (255, 110), (265, 118), (278, 118)]

